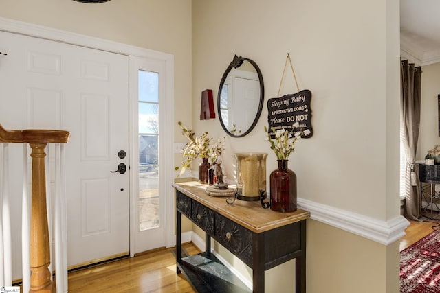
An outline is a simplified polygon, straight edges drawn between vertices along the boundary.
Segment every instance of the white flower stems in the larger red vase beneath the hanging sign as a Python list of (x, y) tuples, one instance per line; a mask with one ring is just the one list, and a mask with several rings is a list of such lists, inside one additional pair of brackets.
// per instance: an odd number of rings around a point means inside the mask
[[(298, 121), (296, 121), (293, 126), (294, 128), (298, 128), (300, 125)], [(310, 134), (310, 130), (308, 129), (296, 131), (292, 134), (292, 132), (285, 130), (285, 128), (278, 130), (272, 128), (272, 131), (275, 134), (275, 138), (272, 139), (266, 126), (264, 127), (264, 130), (267, 133), (265, 140), (270, 142), (270, 148), (275, 152), (276, 159), (278, 160), (289, 159), (289, 155), (295, 150), (296, 141), (301, 137)]]

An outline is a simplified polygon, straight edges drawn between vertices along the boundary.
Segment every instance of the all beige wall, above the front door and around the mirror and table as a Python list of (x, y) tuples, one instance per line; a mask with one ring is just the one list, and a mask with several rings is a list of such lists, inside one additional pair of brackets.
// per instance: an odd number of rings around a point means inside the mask
[[(198, 120), (201, 91), (217, 95), (237, 54), (261, 68), (265, 100), (275, 97), (289, 52), (300, 89), (313, 93), (314, 137), (298, 143), (289, 164), (298, 195), (386, 221), (399, 214), (399, 8), (385, 2), (193, 0), (191, 11), (190, 0), (2, 0), (0, 16), (173, 54), (175, 119), (214, 137), (225, 134), (218, 119)], [(284, 84), (281, 94), (296, 91), (292, 75)], [(251, 134), (227, 137), (226, 164), (234, 152), (268, 152), (267, 172), (275, 168), (266, 119), (265, 106)], [(184, 141), (178, 128), (175, 139)], [(398, 292), (396, 244), (314, 220), (307, 226), (308, 292)], [(290, 268), (271, 270), (267, 283), (291, 279)]]

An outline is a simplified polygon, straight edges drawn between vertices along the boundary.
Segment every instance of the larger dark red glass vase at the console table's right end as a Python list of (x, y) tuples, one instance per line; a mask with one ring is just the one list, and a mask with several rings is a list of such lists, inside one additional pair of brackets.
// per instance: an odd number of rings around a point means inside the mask
[(278, 169), (270, 174), (270, 209), (296, 211), (296, 174), (287, 168), (288, 160), (278, 160)]

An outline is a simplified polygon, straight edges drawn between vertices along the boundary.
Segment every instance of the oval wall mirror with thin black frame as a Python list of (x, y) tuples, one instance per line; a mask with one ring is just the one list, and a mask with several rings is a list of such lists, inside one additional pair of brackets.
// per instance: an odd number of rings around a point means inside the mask
[(220, 123), (231, 137), (244, 137), (259, 121), (264, 101), (263, 75), (253, 60), (234, 56), (223, 73), (217, 97)]

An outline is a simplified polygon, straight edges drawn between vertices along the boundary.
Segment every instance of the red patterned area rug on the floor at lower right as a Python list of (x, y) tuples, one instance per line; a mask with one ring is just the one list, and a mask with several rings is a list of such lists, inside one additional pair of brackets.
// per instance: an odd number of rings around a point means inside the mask
[(440, 230), (401, 251), (400, 292), (440, 292)]

